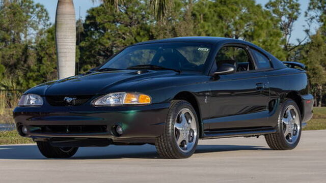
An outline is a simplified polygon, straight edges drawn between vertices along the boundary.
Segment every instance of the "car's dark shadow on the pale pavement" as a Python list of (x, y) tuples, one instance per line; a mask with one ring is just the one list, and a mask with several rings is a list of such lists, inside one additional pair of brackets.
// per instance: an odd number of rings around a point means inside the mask
[[(269, 150), (253, 145), (198, 145), (195, 154), (219, 153), (235, 150)], [(71, 160), (78, 159), (159, 159), (153, 145), (110, 145), (108, 147), (81, 147)], [(0, 159), (42, 160), (44, 158), (36, 145), (2, 145)]]

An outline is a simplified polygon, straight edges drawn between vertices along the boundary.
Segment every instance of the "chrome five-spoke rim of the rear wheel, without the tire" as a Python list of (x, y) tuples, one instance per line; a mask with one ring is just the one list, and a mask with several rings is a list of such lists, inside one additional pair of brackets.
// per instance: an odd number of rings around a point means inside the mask
[(283, 133), (286, 141), (293, 144), (300, 134), (300, 116), (293, 105), (289, 105), (282, 118)]

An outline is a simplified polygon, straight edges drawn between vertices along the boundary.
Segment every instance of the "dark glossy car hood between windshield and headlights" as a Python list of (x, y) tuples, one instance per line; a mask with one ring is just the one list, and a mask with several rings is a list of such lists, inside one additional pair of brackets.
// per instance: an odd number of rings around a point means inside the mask
[(176, 75), (178, 75), (178, 73), (174, 71), (151, 70), (94, 72), (47, 82), (35, 86), (26, 93), (43, 96), (106, 94), (108, 90), (110, 90), (110, 92), (122, 92), (122, 89), (127, 89), (144, 80)]

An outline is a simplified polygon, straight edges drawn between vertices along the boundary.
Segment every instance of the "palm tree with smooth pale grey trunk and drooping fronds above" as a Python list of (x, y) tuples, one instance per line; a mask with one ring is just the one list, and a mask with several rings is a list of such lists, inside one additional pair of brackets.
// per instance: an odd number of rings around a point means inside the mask
[[(123, 0), (91, 0), (101, 2), (107, 8), (118, 10)], [(161, 20), (166, 12), (166, 0), (150, 0), (156, 17)], [(56, 13), (56, 46), (59, 79), (75, 75), (76, 18), (73, 0), (58, 0)]]

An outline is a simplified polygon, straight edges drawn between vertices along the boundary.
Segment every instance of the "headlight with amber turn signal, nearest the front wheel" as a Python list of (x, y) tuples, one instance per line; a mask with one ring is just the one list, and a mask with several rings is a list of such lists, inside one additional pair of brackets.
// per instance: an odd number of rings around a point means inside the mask
[(93, 101), (94, 106), (145, 105), (150, 103), (151, 98), (147, 95), (125, 92), (107, 94)]

